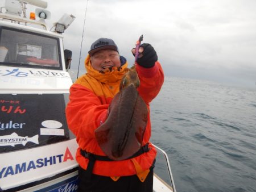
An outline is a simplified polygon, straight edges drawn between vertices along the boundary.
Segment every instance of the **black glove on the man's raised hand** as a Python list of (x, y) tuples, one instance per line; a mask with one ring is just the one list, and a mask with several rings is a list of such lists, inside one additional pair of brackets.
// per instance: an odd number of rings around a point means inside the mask
[(156, 55), (155, 49), (149, 43), (141, 44), (141, 47), (144, 48), (142, 57), (137, 59), (137, 63), (144, 68), (152, 68), (155, 66), (155, 62), (158, 60), (158, 55)]

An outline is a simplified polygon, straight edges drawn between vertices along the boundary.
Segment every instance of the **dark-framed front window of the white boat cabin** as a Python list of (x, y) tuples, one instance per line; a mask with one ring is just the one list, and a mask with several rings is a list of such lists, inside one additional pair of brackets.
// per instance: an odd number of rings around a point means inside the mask
[(56, 37), (0, 28), (0, 65), (62, 69)]

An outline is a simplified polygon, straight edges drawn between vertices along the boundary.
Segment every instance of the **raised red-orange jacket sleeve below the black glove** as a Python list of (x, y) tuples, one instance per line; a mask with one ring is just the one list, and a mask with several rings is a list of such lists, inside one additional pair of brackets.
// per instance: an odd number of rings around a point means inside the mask
[(138, 87), (139, 94), (144, 102), (148, 104), (158, 95), (163, 85), (164, 73), (162, 66), (156, 61), (152, 68), (143, 68), (136, 65), (136, 69), (141, 81), (141, 85)]

